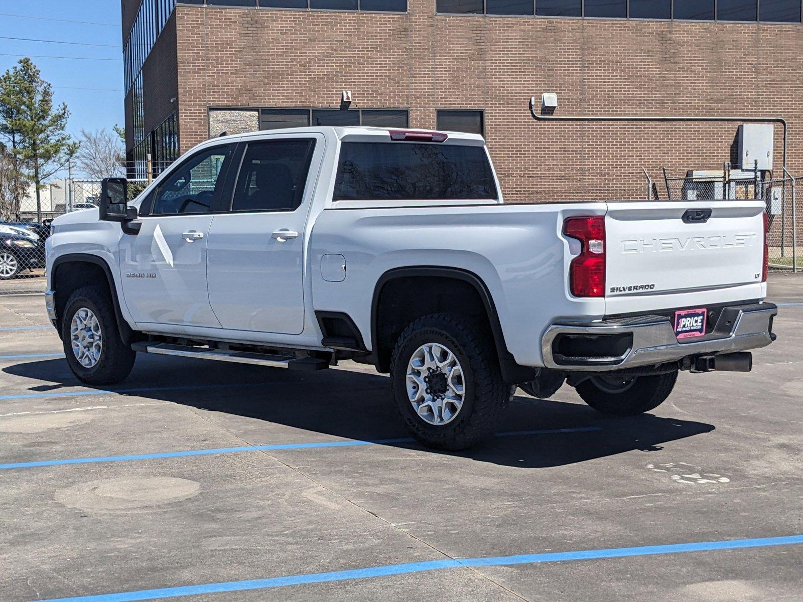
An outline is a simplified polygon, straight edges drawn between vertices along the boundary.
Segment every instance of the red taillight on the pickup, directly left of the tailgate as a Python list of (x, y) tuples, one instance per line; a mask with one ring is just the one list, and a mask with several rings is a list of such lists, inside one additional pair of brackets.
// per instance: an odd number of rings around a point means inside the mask
[(605, 216), (569, 218), (563, 233), (581, 242), (569, 266), (569, 290), (576, 297), (605, 296)]

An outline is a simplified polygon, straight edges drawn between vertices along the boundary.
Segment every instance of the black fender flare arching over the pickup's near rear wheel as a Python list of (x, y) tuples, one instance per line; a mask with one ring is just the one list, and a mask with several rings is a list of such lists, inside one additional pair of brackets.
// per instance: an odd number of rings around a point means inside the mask
[(491, 296), (491, 291), (488, 290), (487, 285), (478, 275), (474, 272), (463, 270), (459, 267), (446, 267), (446, 266), (410, 266), (410, 267), (397, 267), (387, 270), (377, 280), (377, 285), (373, 289), (373, 299), (371, 300), (371, 349), (374, 359), (374, 364), (377, 369), (380, 369), (379, 360), (379, 337), (378, 337), (378, 320), (379, 320), (379, 298), (385, 284), (391, 280), (399, 278), (409, 278), (417, 276), (430, 276), (436, 278), (448, 278), (454, 280), (461, 280), (468, 283), (477, 291), (479, 299), (482, 300), (485, 312), (488, 316), (488, 323), (491, 324), (491, 336), (494, 338), (496, 348), (496, 356), (499, 358), (499, 368), (502, 371), (502, 376), (505, 382), (509, 384), (516, 384), (520, 382), (527, 382), (534, 378), (536, 368), (528, 366), (521, 366), (516, 363), (516, 359), (512, 353), (507, 350), (507, 344), (504, 340), (504, 332), (502, 331), (502, 324), (499, 322), (499, 312), (496, 311), (494, 299)]

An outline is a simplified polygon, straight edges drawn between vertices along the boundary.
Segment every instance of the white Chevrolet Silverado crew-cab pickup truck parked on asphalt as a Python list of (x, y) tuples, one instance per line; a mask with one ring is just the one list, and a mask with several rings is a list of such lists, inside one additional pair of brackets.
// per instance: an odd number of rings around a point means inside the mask
[(55, 219), (47, 311), (75, 376), (136, 352), (390, 374), (415, 437), (482, 441), (514, 385), (654, 409), (775, 339), (761, 201), (504, 205), (480, 136), (295, 128), (209, 140), (126, 203)]

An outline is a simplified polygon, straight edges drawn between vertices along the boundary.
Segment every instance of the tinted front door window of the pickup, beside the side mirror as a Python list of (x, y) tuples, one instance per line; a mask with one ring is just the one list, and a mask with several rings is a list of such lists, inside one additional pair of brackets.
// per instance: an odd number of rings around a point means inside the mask
[(202, 214), (220, 196), (234, 144), (206, 148), (193, 155), (161, 182), (151, 215)]

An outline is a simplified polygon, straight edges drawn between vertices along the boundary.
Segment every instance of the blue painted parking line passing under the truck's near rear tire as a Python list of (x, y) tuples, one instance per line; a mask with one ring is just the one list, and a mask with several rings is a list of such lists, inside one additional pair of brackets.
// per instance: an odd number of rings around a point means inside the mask
[[(541, 429), (541, 430), (522, 430), (510, 433), (497, 433), (497, 437), (516, 437), (527, 435), (550, 435), (557, 433), (589, 433), (591, 431), (602, 430), (598, 426), (579, 426), (575, 429)], [(131, 454), (126, 456), (100, 456), (98, 458), (67, 458), (64, 460), (41, 460), (39, 462), (14, 462), (10, 464), (0, 464), (0, 470), (11, 470), (15, 468), (36, 468), (38, 466), (60, 466), (63, 464), (97, 464), (100, 462), (131, 462), (133, 460), (156, 460), (159, 458), (182, 458), (185, 456), (210, 456), (214, 454), (243, 454), (260, 450), (269, 449), (316, 449), (323, 447), (354, 447), (357, 445), (392, 445), (393, 443), (414, 443), (412, 437), (401, 437), (397, 439), (376, 439), (373, 441), (361, 441), (353, 439), (349, 441), (319, 441), (314, 443), (279, 443), (274, 445), (243, 445), (240, 447), (218, 447), (214, 449), (189, 449), (177, 452), (160, 452), (157, 454)]]

